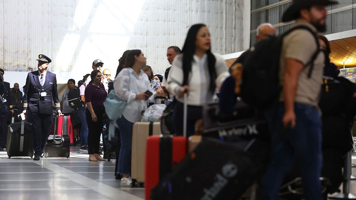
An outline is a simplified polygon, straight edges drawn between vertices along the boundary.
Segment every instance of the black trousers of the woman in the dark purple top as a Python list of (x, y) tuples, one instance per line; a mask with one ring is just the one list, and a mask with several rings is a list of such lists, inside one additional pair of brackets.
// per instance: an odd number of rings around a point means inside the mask
[(105, 112), (104, 106), (93, 107), (97, 121), (93, 122), (91, 114), (88, 109), (85, 110), (85, 118), (88, 124), (88, 154), (99, 153), (100, 135), (103, 132), (103, 114)]

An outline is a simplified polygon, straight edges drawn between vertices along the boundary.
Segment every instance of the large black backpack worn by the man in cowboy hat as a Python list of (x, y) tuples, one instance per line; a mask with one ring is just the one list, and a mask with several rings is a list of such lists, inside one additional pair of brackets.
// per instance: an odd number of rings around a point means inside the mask
[(305, 29), (312, 33), (318, 50), (305, 65), (312, 64), (308, 77), (310, 78), (314, 60), (319, 54), (319, 41), (315, 33), (307, 26), (296, 26), (281, 36), (271, 36), (258, 42), (244, 55), (242, 61), (241, 98), (246, 103), (265, 109), (278, 102), (282, 86), (279, 84), (279, 58), (284, 36), (297, 29)]

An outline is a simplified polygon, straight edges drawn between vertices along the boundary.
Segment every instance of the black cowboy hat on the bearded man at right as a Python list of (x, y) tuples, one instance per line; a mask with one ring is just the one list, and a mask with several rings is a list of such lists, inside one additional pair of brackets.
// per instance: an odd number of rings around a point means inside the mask
[(328, 6), (333, 4), (338, 4), (338, 2), (330, 0), (293, 0), (293, 4), (284, 12), (282, 22), (288, 22), (297, 19), (299, 16), (299, 11), (311, 5)]

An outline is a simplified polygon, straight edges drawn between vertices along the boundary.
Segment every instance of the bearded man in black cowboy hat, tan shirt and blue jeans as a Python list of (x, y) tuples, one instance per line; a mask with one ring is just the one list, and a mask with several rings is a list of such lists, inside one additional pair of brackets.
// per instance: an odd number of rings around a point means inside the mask
[[(296, 20), (298, 28), (283, 37), (279, 80), (283, 92), (279, 105), (267, 111), (274, 122), (271, 163), (263, 180), (261, 199), (277, 199), (284, 175), (294, 158), (301, 159), (306, 200), (322, 200), (320, 171), (321, 117), (318, 107), (325, 56), (319, 51), (316, 34), (326, 29), (325, 6), (330, 0), (293, 0), (282, 21)], [(311, 64), (313, 63), (313, 64)]]

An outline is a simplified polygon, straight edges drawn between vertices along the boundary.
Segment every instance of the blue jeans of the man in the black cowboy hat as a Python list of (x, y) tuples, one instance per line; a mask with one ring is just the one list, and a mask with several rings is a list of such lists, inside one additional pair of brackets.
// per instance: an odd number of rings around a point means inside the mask
[(272, 154), (263, 180), (262, 200), (276, 200), (282, 180), (292, 167), (295, 156), (301, 158), (304, 197), (306, 200), (322, 200), (319, 180), (321, 151), (321, 117), (310, 105), (295, 103), (296, 126), (286, 131), (282, 118), (284, 106), (278, 105), (266, 111), (272, 129)]

